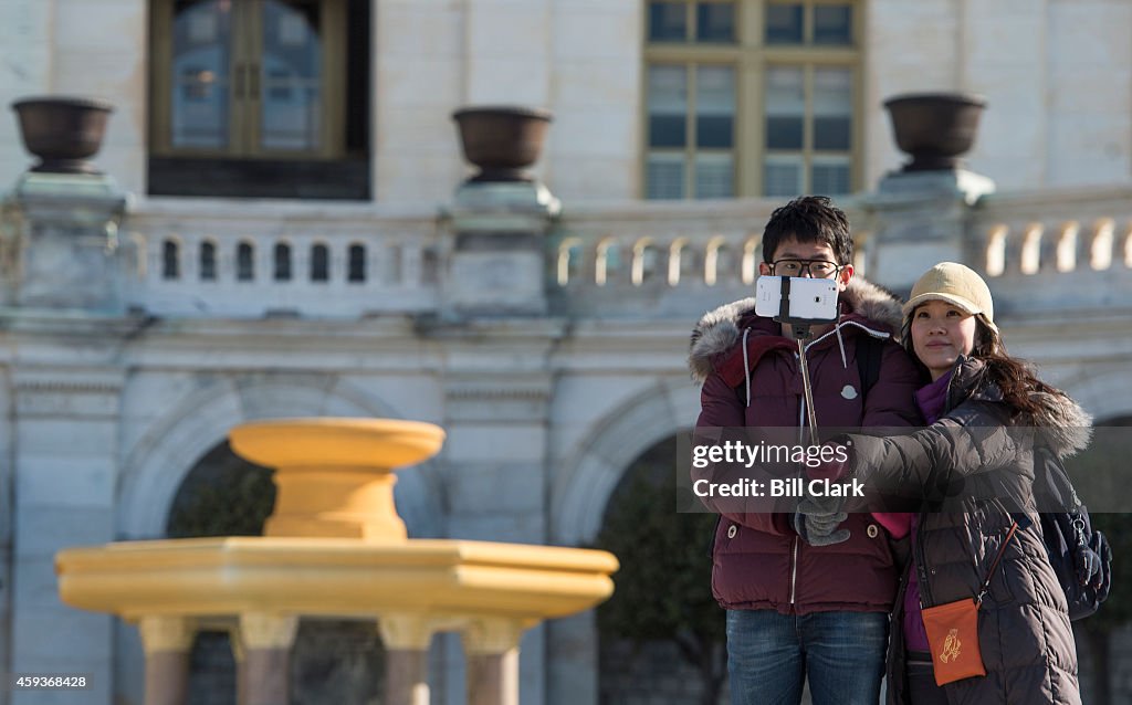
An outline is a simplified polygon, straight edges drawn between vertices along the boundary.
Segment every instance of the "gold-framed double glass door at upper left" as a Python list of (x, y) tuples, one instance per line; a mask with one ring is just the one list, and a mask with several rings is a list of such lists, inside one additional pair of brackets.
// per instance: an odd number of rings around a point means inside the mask
[(156, 153), (344, 154), (342, 0), (158, 1)]

